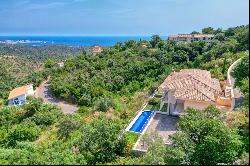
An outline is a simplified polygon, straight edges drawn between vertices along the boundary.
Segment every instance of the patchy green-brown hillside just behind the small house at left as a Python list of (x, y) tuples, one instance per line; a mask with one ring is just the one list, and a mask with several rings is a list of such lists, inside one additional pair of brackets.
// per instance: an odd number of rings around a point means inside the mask
[(35, 87), (44, 78), (43, 63), (16, 56), (0, 56), (0, 100), (6, 99), (11, 89), (28, 83)]

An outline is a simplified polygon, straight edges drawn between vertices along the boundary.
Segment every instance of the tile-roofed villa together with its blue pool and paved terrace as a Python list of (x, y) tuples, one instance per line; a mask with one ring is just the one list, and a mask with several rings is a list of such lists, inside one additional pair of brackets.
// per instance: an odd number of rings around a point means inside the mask
[(160, 108), (148, 111), (143, 107), (143, 111), (127, 127), (127, 131), (140, 134), (133, 151), (146, 152), (149, 145), (142, 136), (155, 131), (162, 137), (164, 144), (172, 144), (170, 135), (176, 132), (179, 116), (187, 108), (203, 110), (213, 105), (222, 111), (232, 110), (233, 92), (227, 82), (212, 78), (209, 71), (201, 69), (183, 69), (170, 73), (158, 87), (159, 96), (162, 96)]

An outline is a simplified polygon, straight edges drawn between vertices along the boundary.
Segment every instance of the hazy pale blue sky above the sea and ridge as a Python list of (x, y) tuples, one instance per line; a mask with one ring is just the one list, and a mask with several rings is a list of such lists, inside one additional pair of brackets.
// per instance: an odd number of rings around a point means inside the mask
[(0, 0), (0, 35), (168, 35), (246, 25), (249, 0)]

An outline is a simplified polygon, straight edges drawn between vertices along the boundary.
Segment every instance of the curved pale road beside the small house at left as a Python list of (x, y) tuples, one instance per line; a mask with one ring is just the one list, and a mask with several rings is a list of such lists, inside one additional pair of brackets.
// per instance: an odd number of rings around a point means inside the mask
[[(49, 78), (48, 78), (48, 80), (49, 80)], [(49, 92), (50, 84), (48, 83), (48, 80), (43, 81), (39, 85), (39, 87), (36, 89), (35, 96), (41, 97), (45, 103), (54, 104), (54, 105), (58, 106), (59, 108), (61, 108), (61, 110), (64, 113), (76, 112), (78, 110), (78, 107), (76, 105), (69, 104), (65, 101), (61, 101)]]

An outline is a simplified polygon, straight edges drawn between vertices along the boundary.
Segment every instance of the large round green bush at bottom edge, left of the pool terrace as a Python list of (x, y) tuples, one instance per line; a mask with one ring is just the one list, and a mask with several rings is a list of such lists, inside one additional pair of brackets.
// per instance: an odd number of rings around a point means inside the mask
[(127, 141), (120, 135), (121, 129), (117, 121), (110, 121), (105, 117), (82, 126), (81, 136), (76, 144), (80, 153), (86, 156), (87, 164), (103, 164), (124, 155)]

